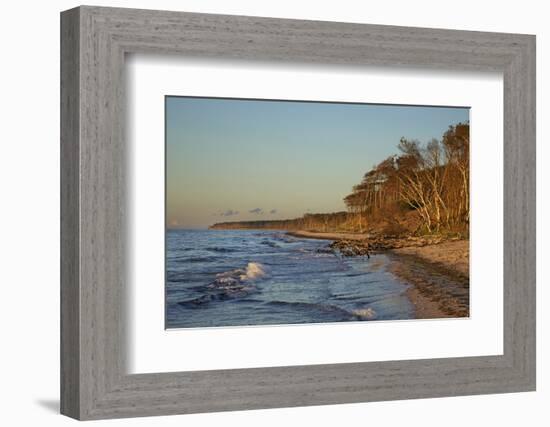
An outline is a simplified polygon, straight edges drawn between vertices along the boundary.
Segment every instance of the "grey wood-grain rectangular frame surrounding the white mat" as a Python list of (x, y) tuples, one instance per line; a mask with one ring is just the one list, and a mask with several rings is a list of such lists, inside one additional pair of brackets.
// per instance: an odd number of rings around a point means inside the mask
[[(504, 354), (125, 370), (126, 53), (499, 71)], [(162, 143), (162, 141), (159, 141)], [(535, 389), (535, 37), (83, 6), (61, 14), (61, 412), (182, 414)]]

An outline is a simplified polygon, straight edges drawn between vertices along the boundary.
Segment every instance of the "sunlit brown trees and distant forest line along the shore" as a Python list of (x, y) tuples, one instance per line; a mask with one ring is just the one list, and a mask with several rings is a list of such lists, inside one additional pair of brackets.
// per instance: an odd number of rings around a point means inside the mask
[(401, 138), (398, 154), (374, 165), (344, 197), (347, 211), (286, 220), (216, 223), (214, 230), (304, 230), (430, 244), (468, 238), (470, 125), (449, 126), (440, 140)]

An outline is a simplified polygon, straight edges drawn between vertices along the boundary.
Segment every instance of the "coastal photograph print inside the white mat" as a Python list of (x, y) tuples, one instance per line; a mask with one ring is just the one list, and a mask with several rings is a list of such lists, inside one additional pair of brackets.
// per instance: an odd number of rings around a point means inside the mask
[(469, 317), (469, 113), (166, 96), (166, 328)]

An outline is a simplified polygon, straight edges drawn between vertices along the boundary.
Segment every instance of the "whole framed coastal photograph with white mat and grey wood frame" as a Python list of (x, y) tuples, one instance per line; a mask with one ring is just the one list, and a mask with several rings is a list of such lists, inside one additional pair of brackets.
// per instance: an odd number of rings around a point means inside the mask
[(61, 14), (61, 411), (535, 389), (535, 37)]

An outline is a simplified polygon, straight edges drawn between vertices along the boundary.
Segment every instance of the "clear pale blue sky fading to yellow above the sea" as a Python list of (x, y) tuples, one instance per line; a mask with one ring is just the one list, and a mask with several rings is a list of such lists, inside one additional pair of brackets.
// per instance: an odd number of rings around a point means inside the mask
[(169, 228), (346, 209), (401, 137), (441, 139), (468, 108), (166, 97)]

